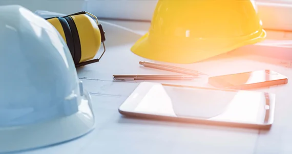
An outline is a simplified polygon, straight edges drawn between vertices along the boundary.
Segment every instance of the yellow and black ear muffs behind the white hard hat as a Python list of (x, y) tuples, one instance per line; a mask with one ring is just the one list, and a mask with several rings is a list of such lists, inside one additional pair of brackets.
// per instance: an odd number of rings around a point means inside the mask
[[(87, 14), (95, 18), (96, 22)], [(47, 18), (47, 20), (66, 41), (76, 67), (98, 62), (105, 53), (105, 32), (98, 24), (96, 16), (83, 11), (64, 17)], [(105, 50), (98, 59), (93, 59), (101, 43)]]

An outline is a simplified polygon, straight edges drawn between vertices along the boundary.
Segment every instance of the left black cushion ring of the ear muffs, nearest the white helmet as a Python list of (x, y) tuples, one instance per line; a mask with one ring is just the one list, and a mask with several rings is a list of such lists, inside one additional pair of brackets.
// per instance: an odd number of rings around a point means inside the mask
[(71, 30), (70, 30), (70, 26), (67, 23), (66, 19), (64, 19), (62, 17), (58, 17), (58, 20), (60, 21), (60, 24), (62, 25), (62, 28), (64, 30), (67, 46), (70, 50), (72, 57), (74, 58), (75, 47), (74, 47), (74, 41), (73, 41), (73, 36), (72, 36)]

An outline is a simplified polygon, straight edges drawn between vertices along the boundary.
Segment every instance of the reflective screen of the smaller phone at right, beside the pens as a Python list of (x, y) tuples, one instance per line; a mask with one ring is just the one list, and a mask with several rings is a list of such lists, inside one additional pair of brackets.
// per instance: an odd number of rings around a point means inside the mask
[(254, 72), (246, 72), (232, 75), (221, 76), (220, 79), (232, 85), (244, 85), (253, 84), (259, 82), (265, 82), (270, 80), (279, 80), (286, 78), (285, 76), (278, 74), (271, 70), (261, 70)]

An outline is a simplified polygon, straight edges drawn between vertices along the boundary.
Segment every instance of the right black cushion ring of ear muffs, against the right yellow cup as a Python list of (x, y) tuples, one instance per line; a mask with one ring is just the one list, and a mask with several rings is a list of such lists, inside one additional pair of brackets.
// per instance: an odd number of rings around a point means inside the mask
[(65, 17), (65, 19), (70, 26), (70, 30), (74, 41), (75, 54), (73, 56), (73, 60), (75, 64), (78, 64), (81, 59), (81, 45), (78, 30), (71, 16)]

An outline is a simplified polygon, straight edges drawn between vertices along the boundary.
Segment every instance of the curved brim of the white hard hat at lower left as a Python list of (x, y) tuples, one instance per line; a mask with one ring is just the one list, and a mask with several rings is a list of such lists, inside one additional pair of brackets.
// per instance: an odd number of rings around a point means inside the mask
[(89, 93), (81, 99), (78, 110), (44, 123), (0, 128), (0, 153), (47, 147), (86, 135), (95, 125)]

